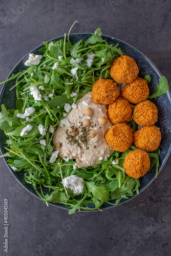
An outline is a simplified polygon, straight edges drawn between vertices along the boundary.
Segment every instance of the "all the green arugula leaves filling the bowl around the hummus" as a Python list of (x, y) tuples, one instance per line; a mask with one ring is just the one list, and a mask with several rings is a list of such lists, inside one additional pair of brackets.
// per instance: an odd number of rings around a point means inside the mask
[[(110, 46), (101, 37), (98, 28), (88, 40), (82, 39), (74, 45), (71, 44), (69, 35), (67, 39), (65, 34), (64, 39), (51, 41), (49, 44), (44, 42), (44, 46), (39, 50), (44, 53), (39, 65), (33, 65), (13, 74), (4, 81), (16, 79), (13, 87), (16, 88), (16, 109), (7, 111), (2, 105), (0, 114), (1, 129), (8, 137), (5, 147), (8, 152), (3, 156), (9, 157), (9, 166), (14, 166), (16, 172), (24, 169), (25, 181), (33, 185), (42, 201), (47, 204), (48, 202), (65, 204), (70, 208), (69, 214), (80, 209), (100, 209), (103, 202), (117, 205), (122, 198), (132, 197), (135, 191), (139, 194), (139, 179), (127, 176), (123, 168), (125, 156), (136, 149), (134, 145), (124, 153), (115, 152), (106, 162), (100, 160), (101, 164), (98, 166), (73, 169), (75, 159), (66, 162), (60, 157), (53, 164), (49, 162), (54, 150), (52, 142), (54, 133), (50, 134), (48, 127), (50, 125), (54, 129), (58, 127), (63, 118), (62, 113), (66, 113), (65, 103), (75, 103), (91, 91), (99, 77), (111, 78), (109, 76), (111, 63), (122, 55), (118, 44)], [(95, 58), (92, 66), (88, 67), (86, 59), (91, 51), (95, 53)], [(62, 60), (59, 61), (58, 56), (63, 56)], [(79, 64), (71, 61), (71, 58), (80, 57), (83, 59)], [(59, 66), (53, 70), (56, 61), (59, 62)], [(78, 68), (78, 80), (70, 72), (75, 67)], [(149, 76), (145, 79), (148, 82), (151, 80)], [(166, 78), (161, 77), (159, 80), (160, 84), (149, 98), (157, 97), (168, 90)], [(44, 87), (44, 90), (40, 90), (42, 100), (35, 102), (30, 95), (29, 88), (33, 86)], [(77, 92), (75, 98), (71, 97), (72, 92)], [(51, 93), (54, 95), (52, 99), (45, 100), (44, 97)], [(17, 117), (18, 113), (24, 113), (30, 106), (35, 108), (35, 112), (28, 120)], [(27, 135), (20, 136), (27, 124), (33, 126), (32, 130)], [(45, 136), (39, 134), (39, 124), (46, 127)], [(131, 120), (129, 125), (134, 132), (138, 130), (134, 120)], [(46, 146), (40, 144), (42, 139), (46, 139)], [(151, 158), (150, 169), (155, 164), (157, 166), (156, 176), (159, 154), (159, 150), (148, 154)], [(119, 164), (112, 164), (112, 161), (117, 159)], [(71, 175), (83, 178), (82, 194), (75, 195), (72, 190), (63, 187), (62, 179)]]

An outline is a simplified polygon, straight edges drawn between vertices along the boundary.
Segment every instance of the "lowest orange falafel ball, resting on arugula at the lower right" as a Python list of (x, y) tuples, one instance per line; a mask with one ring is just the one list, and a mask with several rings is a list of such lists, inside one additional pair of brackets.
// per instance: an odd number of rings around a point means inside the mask
[(133, 150), (127, 154), (123, 164), (125, 173), (135, 179), (144, 176), (148, 172), (149, 167), (149, 156), (142, 150)]

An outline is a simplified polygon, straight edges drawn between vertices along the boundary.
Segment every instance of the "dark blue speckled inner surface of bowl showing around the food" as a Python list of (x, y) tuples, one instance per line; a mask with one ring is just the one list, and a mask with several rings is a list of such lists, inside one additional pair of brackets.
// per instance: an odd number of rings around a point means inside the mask
[[(87, 40), (89, 37), (91, 37), (91, 35), (92, 34), (90, 34), (90, 33), (72, 34), (72, 35), (70, 35), (70, 41), (73, 44), (75, 44), (75, 42), (77, 42), (81, 39)], [(129, 55), (130, 57), (135, 59), (135, 61), (137, 62), (138, 68), (139, 68), (139, 74), (138, 74), (139, 77), (144, 78), (145, 75), (151, 76), (152, 82), (148, 84), (149, 93), (151, 95), (154, 92), (154, 88), (157, 86), (157, 83), (159, 82), (159, 78), (161, 77), (160, 72), (153, 65), (153, 63), (148, 58), (146, 58), (142, 53), (140, 53), (138, 50), (136, 50), (132, 46), (126, 44), (125, 42), (123, 42), (119, 39), (110, 37), (110, 36), (106, 36), (106, 35), (102, 35), (102, 37), (103, 37), (103, 39), (106, 39), (106, 41), (109, 43), (109, 45), (114, 46), (118, 43), (122, 52), (124, 52), (126, 55)], [(63, 38), (63, 36), (60, 36), (60, 37), (54, 38), (50, 41), (59, 40), (62, 38)], [(42, 54), (41, 52), (39, 52), (39, 49), (42, 47), (44, 47), (44, 45), (38, 46), (37, 48), (32, 50), (30, 53)], [(11, 71), (11, 73), (9, 74), (8, 77), (10, 77), (12, 75), (12, 73), (16, 74), (19, 70), (26, 69), (24, 62), (26, 61), (26, 59), (28, 59), (28, 55), (29, 55), (29, 53), (17, 63), (17, 65), (14, 67), (14, 69)], [(9, 91), (9, 89), (12, 88), (14, 86), (14, 84), (15, 84), (15, 81), (13, 81), (13, 80), (6, 82), (1, 91), (0, 104), (1, 105), (4, 104), (7, 109), (15, 109), (15, 101), (16, 101), (15, 90)], [(171, 144), (171, 133), (170, 133), (170, 130), (171, 130), (171, 119), (170, 119), (171, 97), (170, 97), (170, 92), (167, 91), (166, 94), (159, 96), (157, 99), (153, 99), (152, 101), (156, 104), (156, 106), (158, 108), (159, 118), (155, 125), (160, 128), (161, 136), (162, 136), (162, 140), (161, 140), (161, 143), (159, 146), (159, 149), (161, 151), (161, 154), (159, 156), (159, 160), (160, 160), (159, 173), (160, 173), (161, 169), (163, 168), (164, 164), (166, 163), (166, 160), (169, 156), (170, 149), (171, 149), (170, 148), (170, 144)], [(7, 137), (5, 136), (4, 131), (2, 131), (2, 130), (0, 130), (0, 136), (1, 136), (1, 140), (0, 140), (1, 152), (2, 152), (2, 154), (5, 154), (6, 150), (5, 150), (4, 146), (5, 146)], [(7, 159), (8, 158), (5, 157), (5, 161), (7, 161)], [(8, 164), (7, 164), (7, 166), (8, 166)], [(33, 186), (31, 184), (28, 184), (25, 182), (23, 171), (14, 172), (9, 166), (8, 166), (8, 168), (10, 169), (11, 173), (14, 175), (14, 177), (17, 179), (17, 181), (21, 185), (23, 185), (32, 195), (39, 198), (37, 196)], [(150, 172), (148, 172), (145, 176), (140, 178), (140, 184), (141, 184), (140, 193), (142, 193), (142, 191), (149, 184), (151, 184), (151, 182), (155, 179), (155, 175), (156, 175), (156, 167), (153, 167)], [(45, 190), (45, 193), (46, 192), (47, 192), (47, 190)], [(136, 193), (134, 194), (133, 197), (131, 197), (129, 199), (121, 199), (121, 201), (119, 202), (118, 205), (133, 199), (135, 196), (137, 196)], [(115, 200), (110, 201), (110, 202), (115, 203)], [(51, 204), (54, 206), (57, 206), (57, 207), (68, 209), (67, 206), (65, 206), (63, 204), (53, 204), (53, 203), (51, 203)], [(89, 205), (89, 207), (94, 208), (94, 205), (93, 204)], [(103, 203), (103, 205), (100, 208), (108, 209), (111, 207), (114, 207), (114, 205), (111, 205), (108, 203)], [(86, 210), (83, 210), (83, 211), (86, 211)]]

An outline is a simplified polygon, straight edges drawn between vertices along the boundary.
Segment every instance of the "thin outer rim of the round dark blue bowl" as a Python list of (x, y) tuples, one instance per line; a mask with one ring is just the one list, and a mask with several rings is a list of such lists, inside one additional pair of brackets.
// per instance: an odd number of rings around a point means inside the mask
[[(83, 35), (90, 35), (90, 36), (92, 35), (92, 33), (73, 33), (73, 34), (70, 34), (70, 36), (72, 36), (72, 35), (76, 36), (76, 35), (82, 35), (82, 34), (83, 34)], [(123, 40), (120, 40), (120, 39), (118, 39), (118, 38), (116, 38), (116, 37), (112, 37), (112, 36), (108, 36), (108, 35), (104, 35), (104, 34), (102, 34), (101, 36), (102, 36), (102, 37), (109, 38), (109, 39), (116, 39), (116, 40), (118, 41), (118, 43), (119, 43), (119, 42), (122, 42), (123, 44), (125, 44), (125, 45), (131, 47), (134, 51), (136, 51), (136, 52), (138, 52), (139, 54), (141, 54), (141, 55), (145, 58), (145, 60), (149, 63), (149, 65), (153, 67), (154, 71), (158, 74), (158, 76), (161, 78), (162, 75), (161, 75), (160, 71), (157, 69), (157, 67), (154, 65), (154, 63), (153, 63), (151, 60), (149, 60), (143, 53), (141, 53), (139, 50), (137, 50), (135, 47), (131, 46), (130, 44), (127, 44), (127, 42), (125, 42), (125, 41), (123, 41)], [(59, 39), (63, 39), (63, 38), (64, 38), (64, 35), (55, 37), (55, 38), (53, 38), (53, 39), (50, 39), (50, 40), (48, 40), (47, 42), (49, 43), (49, 42), (51, 42), (51, 41), (59, 40)], [(14, 66), (14, 68), (11, 70), (11, 72), (9, 73), (9, 75), (7, 76), (7, 79), (12, 75), (13, 71), (15, 71), (15, 69), (20, 65), (20, 63), (21, 63), (30, 53), (33, 53), (33, 52), (39, 50), (39, 49), (42, 48), (42, 47), (44, 47), (44, 44), (41, 44), (41, 45), (35, 47), (33, 50), (31, 50), (30, 52), (28, 52), (22, 59), (20, 59), (20, 60), (16, 63), (16, 65)], [(3, 87), (2, 87), (2, 89), (1, 89), (1, 93), (0, 93), (0, 105), (2, 105), (2, 104), (1, 104), (1, 100), (2, 100), (2, 96), (3, 96), (4, 90), (5, 90), (5, 88), (6, 88), (6, 83), (7, 83), (7, 82), (5, 82), (5, 83), (3, 84)], [(166, 94), (167, 94), (168, 100), (171, 102), (171, 94), (170, 94), (170, 90), (169, 90), (169, 89), (167, 90)], [(3, 155), (1, 146), (0, 146), (0, 152), (1, 152), (1, 154)], [(167, 161), (167, 159), (168, 159), (168, 157), (169, 157), (169, 155), (170, 155), (170, 152), (171, 152), (171, 143), (170, 143), (170, 146), (169, 146), (169, 148), (168, 148), (167, 155), (166, 155), (166, 157), (164, 158), (164, 160), (162, 161), (162, 164), (161, 164), (161, 166), (160, 166), (160, 168), (159, 168), (159, 170), (158, 170), (158, 175), (159, 175), (159, 173), (161, 172), (162, 168), (164, 167), (164, 165), (165, 165), (165, 163), (166, 163), (166, 161)], [(3, 158), (4, 158), (4, 157), (3, 157)], [(26, 188), (25, 185), (14, 175), (13, 170), (10, 168), (10, 166), (9, 166), (8, 163), (6, 162), (5, 158), (4, 158), (4, 161), (5, 161), (5, 163), (6, 163), (7, 167), (8, 167), (8, 169), (10, 170), (10, 172), (12, 173), (12, 175), (15, 177), (15, 179), (20, 183), (20, 185), (22, 185), (22, 186), (23, 186), (27, 191), (29, 191), (29, 193), (31, 193), (33, 196), (35, 196), (36, 198), (38, 198), (39, 200), (42, 201), (42, 199), (41, 199), (40, 197), (38, 197), (38, 195), (34, 194), (32, 191), (30, 191), (28, 188)], [(158, 175), (157, 175), (157, 177), (158, 177)], [(156, 179), (156, 177), (153, 177), (153, 178), (151, 179), (151, 181), (150, 181), (145, 187), (143, 187), (143, 188), (141, 189), (140, 193), (142, 193), (155, 179)], [(133, 197), (130, 197), (130, 198), (128, 198), (127, 200), (125, 200), (125, 201), (123, 201), (123, 202), (121, 202), (121, 203), (119, 203), (119, 204), (117, 204), (117, 205), (111, 205), (111, 204), (109, 204), (108, 206), (105, 206), (105, 208), (103, 208), (102, 211), (105, 210), (105, 209), (110, 209), (110, 208), (114, 208), (114, 207), (116, 207), (116, 206), (122, 205), (123, 203), (126, 203), (127, 201), (130, 201), (130, 200), (134, 199), (134, 198), (137, 197), (138, 195), (139, 195), (139, 194), (137, 194), (137, 193), (135, 192), (135, 194), (134, 194)], [(108, 203), (108, 202), (106, 202), (106, 203)], [(60, 205), (57, 205), (57, 204), (54, 204), (54, 203), (51, 203), (51, 202), (48, 202), (48, 204), (53, 205), (53, 206), (55, 206), (55, 207), (62, 208), (62, 209), (70, 210), (70, 208), (62, 207), (62, 206), (60, 206)], [(91, 210), (80, 209), (79, 211), (92, 212), (92, 211), (99, 211), (99, 210), (92, 208)]]

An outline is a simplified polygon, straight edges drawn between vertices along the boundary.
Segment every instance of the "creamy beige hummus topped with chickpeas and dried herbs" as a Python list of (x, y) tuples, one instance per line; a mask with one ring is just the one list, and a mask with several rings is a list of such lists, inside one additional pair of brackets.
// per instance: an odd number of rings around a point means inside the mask
[(76, 159), (77, 167), (99, 165), (99, 159), (108, 159), (114, 150), (106, 143), (105, 133), (112, 123), (105, 105), (95, 104), (92, 92), (77, 101), (68, 117), (54, 133), (53, 143), (61, 158)]

